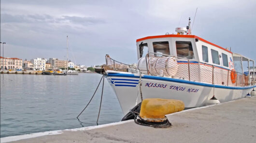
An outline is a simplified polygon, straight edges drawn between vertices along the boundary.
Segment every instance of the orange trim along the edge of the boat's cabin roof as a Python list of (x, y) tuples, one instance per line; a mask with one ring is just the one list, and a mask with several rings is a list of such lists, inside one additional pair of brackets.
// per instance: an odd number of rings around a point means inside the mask
[(147, 36), (147, 37), (143, 37), (143, 38), (140, 38), (140, 39), (137, 39), (136, 42), (139, 42), (139, 41), (142, 41), (142, 40), (146, 40), (146, 39), (154, 39), (154, 38), (166, 38), (166, 37), (181, 37), (181, 38), (198, 38), (200, 41), (203, 41), (205, 43), (208, 43), (210, 45), (213, 45), (217, 48), (221, 48), (229, 53), (232, 54), (231, 51), (227, 50), (226, 48), (222, 48), (216, 44), (213, 44), (207, 40), (204, 40), (203, 38), (200, 38), (199, 36), (195, 36), (195, 35), (174, 35), (174, 34), (171, 34), (171, 35), (160, 35), (160, 36)]

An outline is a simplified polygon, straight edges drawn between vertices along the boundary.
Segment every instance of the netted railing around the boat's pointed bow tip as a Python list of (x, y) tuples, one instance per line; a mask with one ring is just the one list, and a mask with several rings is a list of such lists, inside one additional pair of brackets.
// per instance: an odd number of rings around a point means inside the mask
[(131, 67), (128, 64), (116, 61), (107, 54), (105, 56), (106, 58), (106, 64), (107, 64), (107, 70), (113, 70), (113, 71), (122, 71), (122, 72), (127, 72), (127, 70)]

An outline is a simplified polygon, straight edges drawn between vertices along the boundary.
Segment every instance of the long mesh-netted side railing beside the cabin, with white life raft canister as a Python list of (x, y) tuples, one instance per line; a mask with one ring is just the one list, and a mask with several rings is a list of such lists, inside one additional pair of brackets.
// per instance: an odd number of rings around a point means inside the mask
[(211, 83), (225, 86), (254, 85), (255, 75), (249, 78), (241, 72), (229, 70), (213, 64), (196, 60), (161, 54), (147, 53), (145, 56), (148, 75), (164, 76), (200, 83)]

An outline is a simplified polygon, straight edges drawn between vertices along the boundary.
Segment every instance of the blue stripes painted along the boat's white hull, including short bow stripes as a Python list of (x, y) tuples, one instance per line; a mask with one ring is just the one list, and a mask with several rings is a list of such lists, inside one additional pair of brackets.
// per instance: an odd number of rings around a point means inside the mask
[[(134, 74), (125, 74), (125, 73), (108, 73), (108, 76), (140, 78), (140, 76), (135, 76)], [(173, 79), (173, 78), (167, 78), (167, 77), (159, 77), (159, 76), (151, 76), (151, 75), (143, 75), (142, 79), (161, 80), (161, 81), (169, 81), (169, 82), (175, 82), (175, 83), (187, 83), (187, 84), (213, 87), (213, 84), (209, 84), (209, 83), (199, 83), (199, 82), (192, 82), (192, 81)], [(118, 79), (115, 79), (115, 80), (118, 80)], [(125, 80), (125, 79), (120, 79), (120, 80)], [(127, 80), (130, 80), (130, 79), (127, 79)], [(139, 80), (137, 80), (137, 81), (139, 81)], [(226, 88), (226, 89), (250, 89), (250, 88), (256, 87), (256, 85), (247, 86), (247, 87), (233, 87), (233, 86), (224, 86), (224, 85), (216, 85), (215, 84), (214, 87), (215, 88)]]

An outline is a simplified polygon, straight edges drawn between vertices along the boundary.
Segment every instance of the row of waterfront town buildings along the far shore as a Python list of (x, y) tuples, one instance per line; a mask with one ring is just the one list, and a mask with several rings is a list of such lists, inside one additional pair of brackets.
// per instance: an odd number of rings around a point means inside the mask
[[(91, 66), (95, 68), (96, 66)], [(34, 71), (47, 71), (52, 69), (70, 69), (79, 72), (87, 72), (87, 66), (76, 65), (71, 60), (59, 60), (57, 58), (36, 58), (31, 60), (22, 60), (19, 58), (6, 58), (0, 57), (1, 70), (34, 70)], [(89, 71), (88, 71), (89, 72)]]

